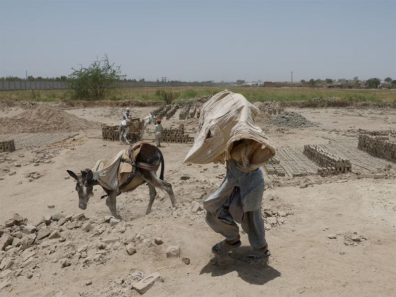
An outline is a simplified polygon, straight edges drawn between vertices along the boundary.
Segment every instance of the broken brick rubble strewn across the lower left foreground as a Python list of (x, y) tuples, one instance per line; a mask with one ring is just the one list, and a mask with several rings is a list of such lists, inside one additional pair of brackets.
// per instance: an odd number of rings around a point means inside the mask
[[(48, 207), (53, 208), (54, 205)], [(71, 267), (73, 270), (84, 270), (91, 265), (106, 264), (117, 253), (133, 256), (164, 244), (158, 236), (151, 238), (143, 233), (131, 236), (127, 232), (130, 227), (131, 223), (112, 216), (95, 221), (84, 213), (55, 213), (30, 224), (27, 218), (14, 214), (4, 225), (0, 225), (0, 280), (6, 287), (21, 276), (31, 279), (46, 263), (43, 259), (57, 263), (60, 269)], [(76, 246), (77, 242), (79, 246)], [(190, 264), (188, 257), (181, 256), (180, 246), (169, 245), (165, 248), (164, 258), (180, 259), (186, 265)], [(163, 281), (157, 272), (145, 276), (143, 272), (135, 271), (126, 278), (115, 280), (117, 287), (113, 293), (117, 295), (123, 290), (134, 289), (144, 294), (154, 283)], [(92, 281), (87, 280), (86, 286), (91, 284)]]

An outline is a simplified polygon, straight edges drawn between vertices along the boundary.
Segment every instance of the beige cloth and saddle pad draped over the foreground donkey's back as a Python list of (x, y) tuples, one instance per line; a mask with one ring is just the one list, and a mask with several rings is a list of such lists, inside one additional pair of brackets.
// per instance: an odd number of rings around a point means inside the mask
[(156, 148), (145, 142), (137, 142), (128, 149), (123, 149), (112, 159), (98, 160), (92, 168), (94, 178), (99, 184), (109, 190), (119, 191), (135, 176), (136, 167), (148, 170), (158, 170), (158, 165), (139, 162), (147, 159)]

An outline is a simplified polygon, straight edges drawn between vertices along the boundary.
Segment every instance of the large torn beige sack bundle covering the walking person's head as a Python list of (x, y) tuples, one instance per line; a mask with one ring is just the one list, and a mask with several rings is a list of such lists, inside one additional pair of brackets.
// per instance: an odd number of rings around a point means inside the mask
[[(275, 148), (254, 124), (258, 112), (258, 108), (241, 94), (228, 90), (217, 93), (201, 108), (200, 130), (184, 161), (224, 163), (233, 157), (244, 171), (260, 167), (275, 155)], [(241, 140), (242, 144), (233, 150)]]

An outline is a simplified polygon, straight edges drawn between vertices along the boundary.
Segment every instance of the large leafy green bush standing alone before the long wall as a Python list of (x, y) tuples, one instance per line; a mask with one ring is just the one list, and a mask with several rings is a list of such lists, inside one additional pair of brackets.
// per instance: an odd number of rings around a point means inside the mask
[(80, 64), (80, 69), (71, 69), (69, 86), (74, 91), (75, 99), (103, 99), (114, 90), (113, 83), (125, 77), (121, 74), (121, 66), (110, 64), (106, 54), (101, 60), (93, 61), (88, 68)]

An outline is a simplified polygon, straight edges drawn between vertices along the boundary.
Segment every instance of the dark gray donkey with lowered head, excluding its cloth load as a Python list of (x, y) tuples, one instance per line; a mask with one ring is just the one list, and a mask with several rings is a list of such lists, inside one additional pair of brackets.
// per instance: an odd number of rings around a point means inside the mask
[[(87, 208), (88, 200), (91, 196), (93, 196), (93, 187), (101, 186), (107, 195), (102, 196), (101, 198), (106, 198), (106, 205), (111, 211), (111, 214), (118, 219), (121, 219), (121, 216), (117, 214), (116, 208), (116, 197), (124, 192), (129, 192), (135, 190), (137, 187), (143, 185), (145, 182), (148, 183), (148, 190), (150, 200), (148, 202), (148, 207), (146, 210), (146, 214), (151, 212), (151, 206), (156, 196), (155, 188), (159, 188), (166, 193), (168, 193), (169, 198), (172, 203), (172, 207), (177, 207), (178, 204), (175, 199), (175, 195), (172, 191), (172, 185), (163, 181), (164, 178), (164, 158), (161, 151), (158, 148), (155, 148), (152, 145), (145, 144), (147, 146), (153, 147), (150, 148), (152, 153), (149, 155), (145, 155), (140, 153), (138, 155), (138, 159), (136, 160), (136, 171), (134, 176), (130, 176), (130, 178), (123, 185), (120, 186), (119, 191), (106, 189), (102, 185), (99, 184), (99, 181), (94, 178), (93, 172), (91, 169), (81, 170), (81, 174), (75, 174), (71, 170), (67, 170), (69, 175), (74, 178), (77, 182), (76, 191), (78, 193), (78, 206), (81, 209)], [(161, 174), (159, 178), (156, 175), (156, 171), (161, 163)]]

